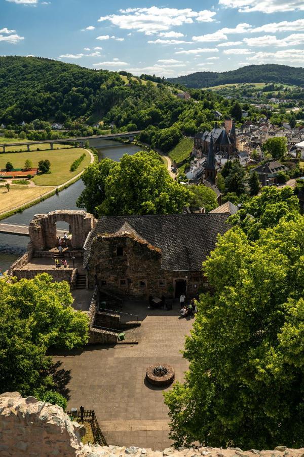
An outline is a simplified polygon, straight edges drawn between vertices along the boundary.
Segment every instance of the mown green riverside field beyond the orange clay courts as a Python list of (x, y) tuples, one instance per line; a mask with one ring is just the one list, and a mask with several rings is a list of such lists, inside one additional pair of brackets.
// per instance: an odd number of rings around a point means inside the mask
[[(85, 159), (81, 162), (77, 170), (71, 172), (70, 166), (72, 162), (84, 153), (86, 154)], [(58, 186), (81, 173), (89, 165), (91, 156), (82, 148), (69, 148), (64, 151), (0, 153), (0, 169), (4, 169), (8, 161), (12, 162), (14, 168), (22, 168), (26, 159), (32, 161), (33, 167), (37, 167), (40, 160), (50, 160), (51, 173), (37, 175), (33, 178), (33, 181), (39, 186)]]

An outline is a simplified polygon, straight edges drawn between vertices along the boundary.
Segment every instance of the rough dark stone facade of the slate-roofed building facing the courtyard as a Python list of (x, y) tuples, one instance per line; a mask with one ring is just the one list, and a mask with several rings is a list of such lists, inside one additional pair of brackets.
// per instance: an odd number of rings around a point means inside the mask
[[(123, 255), (117, 255), (117, 247)], [(187, 285), (187, 296), (195, 297), (207, 281), (201, 271), (165, 271), (161, 269), (161, 249), (127, 235), (98, 235), (91, 244), (89, 286), (121, 296), (147, 299), (174, 294), (175, 281)]]

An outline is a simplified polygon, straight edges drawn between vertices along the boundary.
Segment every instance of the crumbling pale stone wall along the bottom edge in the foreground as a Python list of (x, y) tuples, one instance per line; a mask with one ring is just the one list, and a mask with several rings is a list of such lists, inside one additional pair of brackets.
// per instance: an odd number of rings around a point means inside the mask
[(2, 457), (304, 457), (304, 448), (283, 445), (274, 450), (170, 447), (153, 451), (138, 447), (83, 445), (84, 427), (72, 422), (59, 406), (18, 392), (0, 396), (0, 455)]

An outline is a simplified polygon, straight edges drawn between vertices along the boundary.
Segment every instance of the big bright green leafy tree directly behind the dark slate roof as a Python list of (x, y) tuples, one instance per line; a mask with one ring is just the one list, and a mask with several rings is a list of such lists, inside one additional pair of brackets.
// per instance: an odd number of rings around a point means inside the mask
[(191, 193), (173, 181), (160, 156), (140, 151), (120, 162), (103, 159), (83, 175), (86, 188), (77, 205), (98, 215), (176, 214), (189, 203)]

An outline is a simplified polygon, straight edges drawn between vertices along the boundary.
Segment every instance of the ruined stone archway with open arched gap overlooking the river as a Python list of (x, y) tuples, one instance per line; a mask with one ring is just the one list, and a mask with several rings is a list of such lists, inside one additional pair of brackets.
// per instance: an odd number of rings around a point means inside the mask
[(82, 249), (89, 233), (96, 225), (96, 219), (86, 211), (59, 210), (49, 214), (36, 214), (28, 231), (34, 251), (52, 249), (57, 245), (56, 222), (63, 221), (72, 231), (71, 248)]

